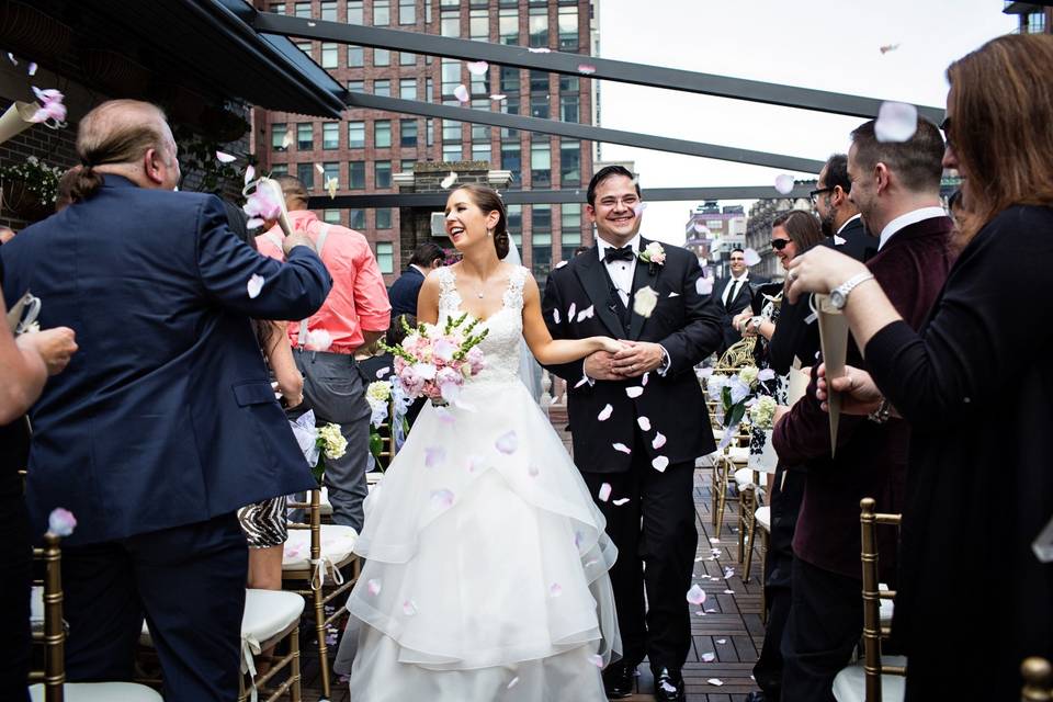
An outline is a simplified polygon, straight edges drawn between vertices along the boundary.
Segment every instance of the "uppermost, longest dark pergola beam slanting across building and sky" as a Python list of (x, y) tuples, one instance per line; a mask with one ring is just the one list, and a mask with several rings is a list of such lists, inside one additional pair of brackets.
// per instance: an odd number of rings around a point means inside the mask
[[(619, 61), (598, 56), (564, 54), (561, 52), (533, 53), (523, 46), (490, 44), (433, 34), (420, 34), (401, 30), (343, 24), (324, 20), (307, 20), (271, 12), (260, 12), (252, 21), (259, 32), (298, 36), (303, 38), (355, 44), (374, 48), (396, 49), (414, 54), (443, 56), (462, 60), (484, 60), (500, 66), (544, 70), (567, 76), (586, 75), (588, 78), (613, 80), (681, 92), (693, 92), (733, 100), (748, 100), (784, 107), (815, 110), (833, 114), (870, 118), (878, 115), (882, 100), (846, 95), (825, 90), (782, 86), (758, 80), (731, 78), (714, 73), (700, 73), (677, 68), (661, 68)], [(588, 72), (579, 69), (588, 67)], [(593, 70), (595, 69), (595, 70)], [(918, 105), (918, 114), (935, 124), (943, 121), (943, 110)]]

